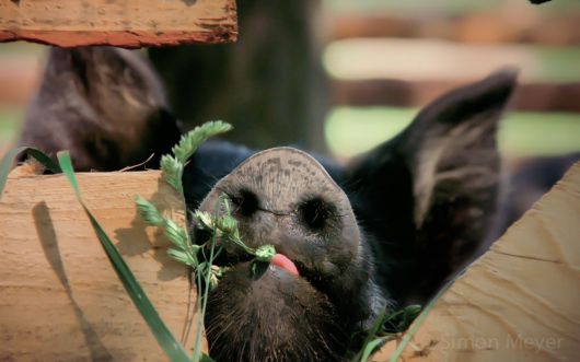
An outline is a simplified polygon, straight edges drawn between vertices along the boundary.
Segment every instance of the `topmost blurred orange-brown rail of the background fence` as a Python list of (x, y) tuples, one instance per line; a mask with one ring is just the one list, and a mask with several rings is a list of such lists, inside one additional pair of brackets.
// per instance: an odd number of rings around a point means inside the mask
[(508, 11), (466, 16), (402, 17), (391, 14), (329, 16), (332, 39), (355, 37), (441, 38), (463, 43), (580, 44), (579, 14), (545, 16)]

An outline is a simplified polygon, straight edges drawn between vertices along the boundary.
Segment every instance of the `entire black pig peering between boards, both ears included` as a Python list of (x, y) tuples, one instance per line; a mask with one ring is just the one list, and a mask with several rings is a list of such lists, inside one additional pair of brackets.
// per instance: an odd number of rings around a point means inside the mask
[[(514, 71), (496, 72), (441, 96), (399, 136), (346, 166), (318, 157), (332, 182), (301, 151), (293, 151), (297, 171), (241, 173), (254, 151), (204, 144), (184, 175), (188, 208), (225, 191), (244, 242), (275, 244), (300, 271), (297, 278), (268, 267), (254, 276), (247, 257), (227, 249), (219, 262), (233, 269), (210, 294), (206, 319), (211, 354), (347, 360), (383, 307), (426, 303), (482, 250), (491, 229), (497, 124), (514, 84)], [(176, 141), (169, 115), (156, 75), (135, 54), (53, 49), (22, 143), (71, 149), (79, 170), (115, 170)], [(254, 157), (269, 162), (267, 152)], [(293, 180), (265, 194), (260, 183), (276, 173)]]

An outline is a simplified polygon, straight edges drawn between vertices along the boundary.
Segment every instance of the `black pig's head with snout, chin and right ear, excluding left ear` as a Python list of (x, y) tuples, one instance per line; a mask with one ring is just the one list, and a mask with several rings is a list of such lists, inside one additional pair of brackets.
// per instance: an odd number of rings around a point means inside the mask
[[(223, 212), (214, 208), (225, 195), (244, 242), (275, 245), (299, 276), (270, 266), (256, 277), (242, 250), (227, 248), (220, 262), (232, 271), (206, 317), (211, 354), (348, 359), (383, 308), (425, 304), (486, 247), (500, 186), (496, 132), (514, 80), (506, 70), (450, 92), (345, 166), (289, 148), (225, 152), (247, 159), (190, 199), (208, 192), (199, 207)], [(216, 147), (194, 156), (186, 180), (212, 174), (204, 159)]]

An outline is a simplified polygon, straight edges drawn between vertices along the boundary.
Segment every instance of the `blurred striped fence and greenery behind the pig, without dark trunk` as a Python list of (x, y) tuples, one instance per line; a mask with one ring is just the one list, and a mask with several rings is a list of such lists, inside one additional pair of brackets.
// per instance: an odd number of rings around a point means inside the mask
[[(442, 92), (504, 66), (521, 69), (513, 112), (500, 135), (506, 156), (580, 151), (580, 1), (322, 4), (316, 31), (326, 43), (322, 61), (332, 106), (324, 132), (338, 156), (388, 139)], [(0, 45), (0, 153), (18, 133), (43, 54), (39, 45)]]

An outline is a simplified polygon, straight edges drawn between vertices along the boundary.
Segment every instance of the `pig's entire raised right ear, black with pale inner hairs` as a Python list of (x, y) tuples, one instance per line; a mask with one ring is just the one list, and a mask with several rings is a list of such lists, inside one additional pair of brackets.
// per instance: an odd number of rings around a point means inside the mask
[(429, 296), (483, 246), (499, 188), (498, 120), (514, 85), (515, 71), (502, 70), (441, 96), (352, 167), (381, 248), (409, 269), (405, 297)]

